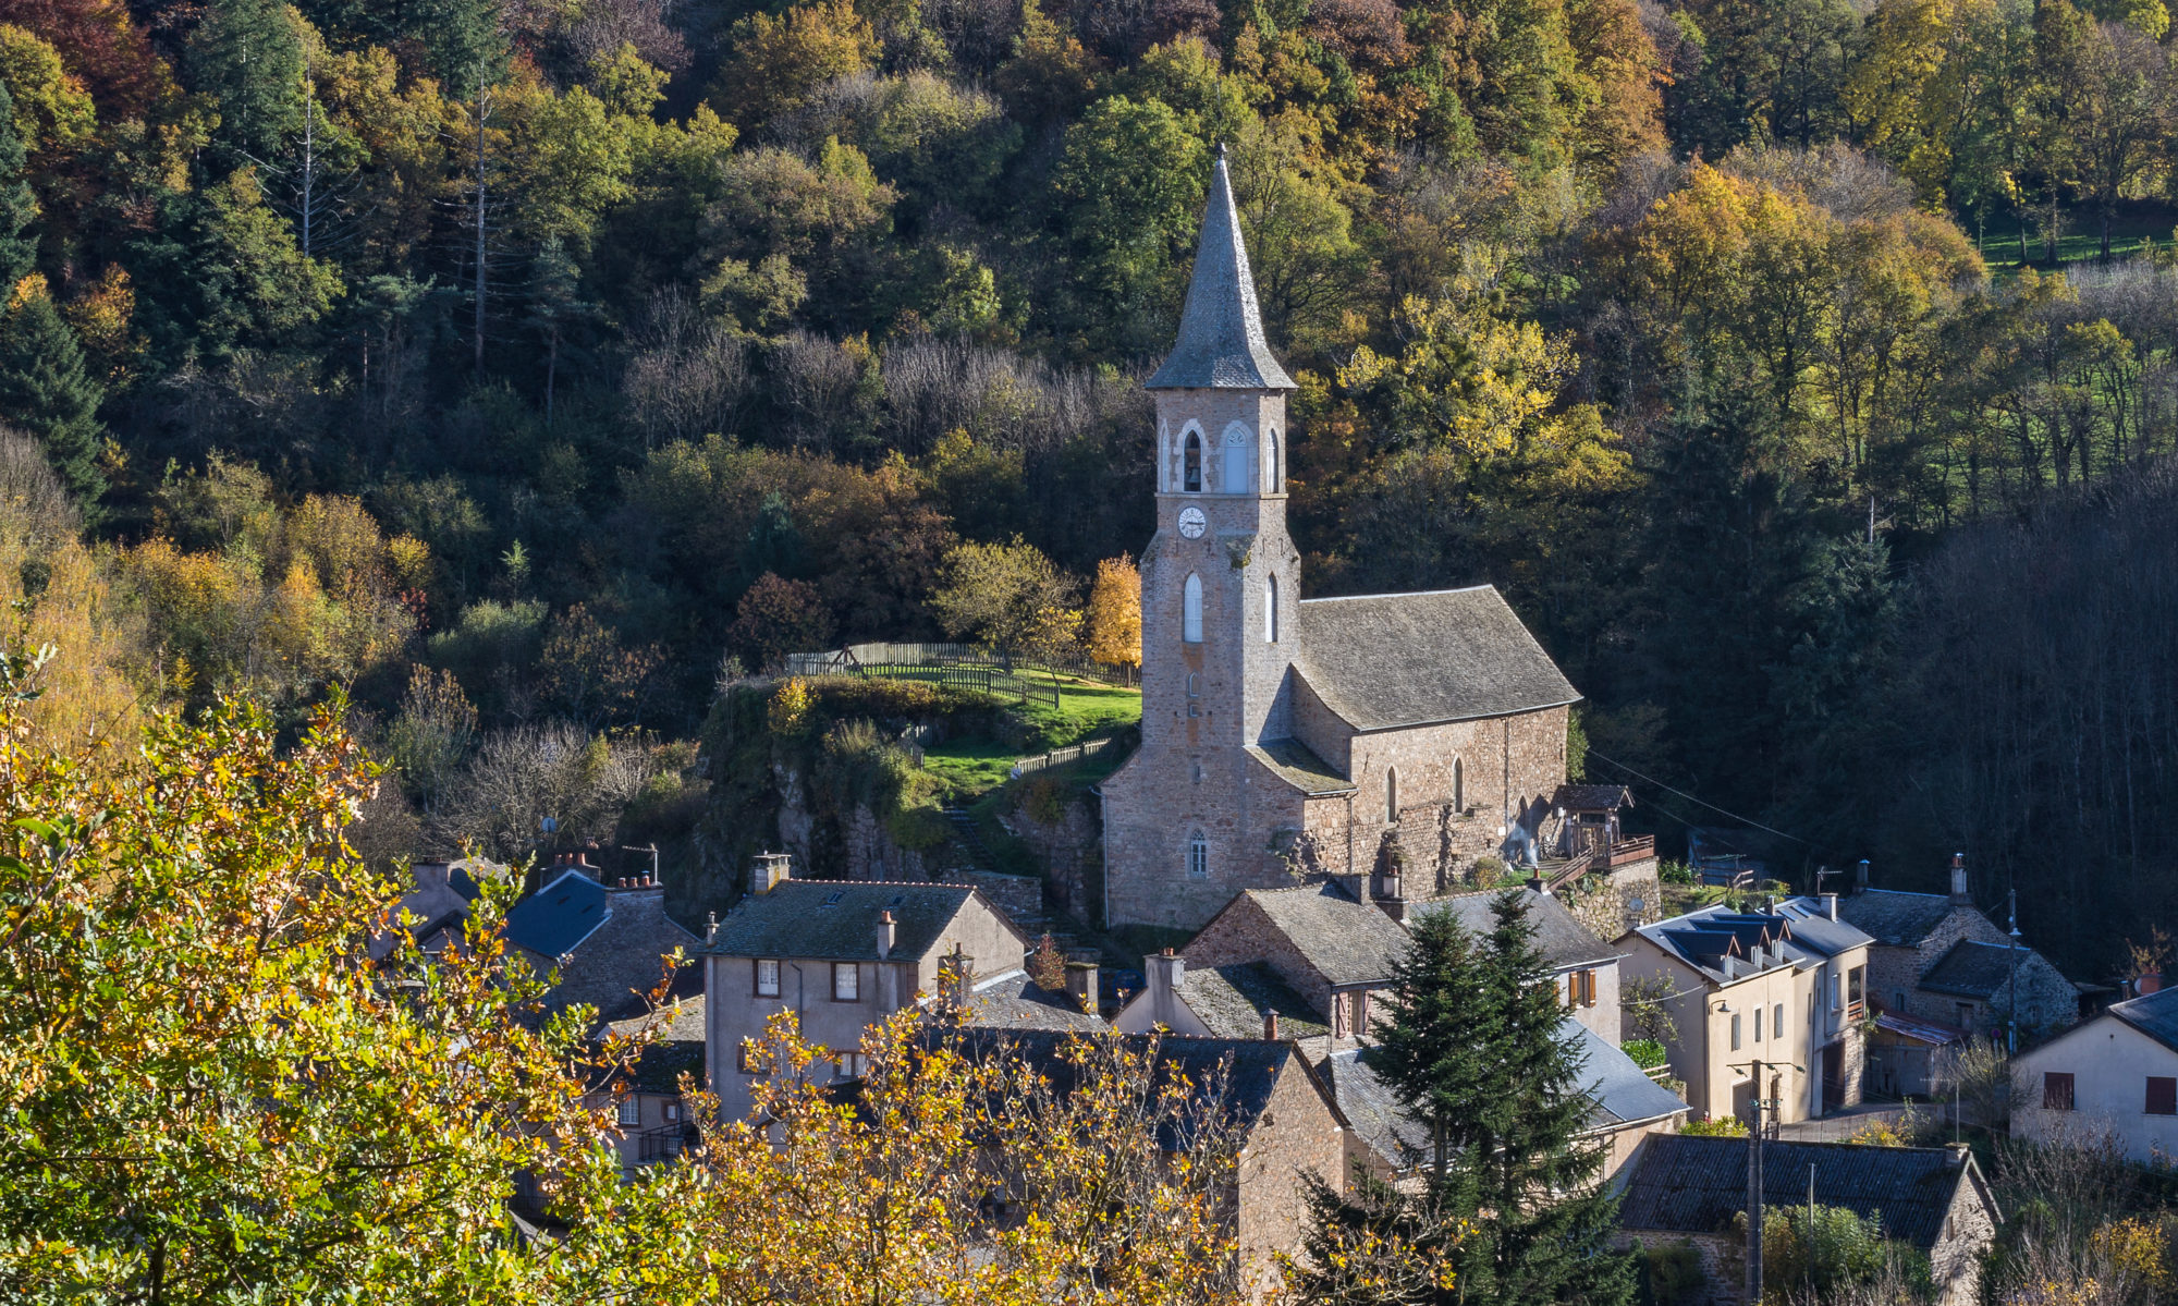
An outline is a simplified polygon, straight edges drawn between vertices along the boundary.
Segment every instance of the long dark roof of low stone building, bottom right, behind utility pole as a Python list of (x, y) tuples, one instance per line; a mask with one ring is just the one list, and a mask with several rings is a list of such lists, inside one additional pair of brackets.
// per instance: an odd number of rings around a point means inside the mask
[[(1808, 1202), (1810, 1165), (1816, 1202), (1873, 1215), (1884, 1236), (1923, 1252), (1943, 1236), (1943, 1219), (1960, 1184), (1980, 1186), (1973, 1158), (1954, 1165), (1947, 1147), (1779, 1141), (1762, 1145), (1762, 1199), (1779, 1206)], [(1627, 1173), (1618, 1223), (1629, 1230), (1714, 1234), (1747, 1210), (1745, 1138), (1657, 1134)], [(1982, 1197), (1986, 1202), (1986, 1191)]]

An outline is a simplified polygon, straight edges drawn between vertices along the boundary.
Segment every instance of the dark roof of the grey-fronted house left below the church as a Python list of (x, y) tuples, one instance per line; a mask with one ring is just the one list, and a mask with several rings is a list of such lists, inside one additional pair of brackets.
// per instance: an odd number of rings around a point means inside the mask
[[(701, 951), (727, 958), (878, 960), (878, 914), (893, 914), (893, 960), (926, 960), (945, 927), (980, 897), (967, 884), (788, 879), (741, 899)], [(991, 912), (1006, 921), (998, 908)], [(1021, 932), (1006, 921), (1006, 927)], [(1021, 936), (1021, 949), (1028, 938)]]

